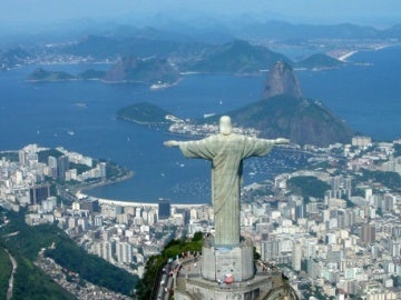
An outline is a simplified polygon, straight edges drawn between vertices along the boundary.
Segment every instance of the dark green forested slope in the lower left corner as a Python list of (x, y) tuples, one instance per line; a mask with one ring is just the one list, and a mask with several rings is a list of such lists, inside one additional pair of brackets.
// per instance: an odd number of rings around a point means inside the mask
[[(88, 280), (94, 284), (124, 294), (130, 294), (137, 284), (138, 278), (136, 276), (129, 274), (127, 271), (119, 269), (96, 256), (88, 254), (56, 224), (30, 227), (25, 222), (23, 213), (8, 212), (7, 216), (10, 222), (8, 226), (0, 229), (0, 237), (1, 241), (19, 262), (18, 274), (16, 276), (16, 287), (21, 287), (21, 293), (30, 294), (32, 290), (39, 288), (51, 288), (51, 284), (48, 283), (52, 282), (50, 278), (33, 264), (33, 261), (38, 257), (38, 252), (42, 248), (48, 248), (51, 244), (53, 244), (55, 248), (46, 251), (47, 256), (53, 258), (55, 261), (63, 268), (79, 273), (82, 279)], [(3, 238), (4, 234), (12, 232), (16, 234)], [(36, 282), (40, 281), (42, 282), (41, 287), (36, 287)], [(28, 282), (31, 282), (32, 286), (23, 288)], [(55, 297), (48, 299), (62, 298)]]

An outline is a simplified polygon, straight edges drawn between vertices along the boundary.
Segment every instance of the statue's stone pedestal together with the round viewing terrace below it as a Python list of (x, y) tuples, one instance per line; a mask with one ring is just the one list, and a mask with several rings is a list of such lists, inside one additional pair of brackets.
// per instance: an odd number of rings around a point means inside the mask
[(175, 280), (177, 300), (267, 299), (273, 282), (266, 271), (256, 271), (250, 240), (238, 246), (217, 247), (213, 237), (203, 240), (202, 257), (184, 264)]

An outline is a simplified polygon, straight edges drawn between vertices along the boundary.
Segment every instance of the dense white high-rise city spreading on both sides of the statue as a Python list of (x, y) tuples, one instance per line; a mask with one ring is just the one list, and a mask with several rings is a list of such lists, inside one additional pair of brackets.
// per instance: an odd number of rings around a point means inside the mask
[[(281, 268), (302, 294), (399, 299), (401, 141), (354, 137), (351, 144), (291, 147), (312, 154), (307, 168), (244, 187), (242, 236), (251, 238), (261, 260)], [(2, 238), (10, 234), (7, 211), (20, 211), (27, 224), (56, 223), (88, 253), (140, 278), (146, 261), (172, 239), (213, 233), (208, 204), (190, 204), (190, 199), (188, 204), (174, 204), (174, 199), (124, 202), (71, 189), (106, 179), (107, 162), (95, 166), (91, 158), (58, 151), (56, 158), (49, 149), (30, 144), (1, 153)], [(88, 169), (82, 171), (81, 164)], [(60, 278), (63, 268), (49, 267), (55, 262), (43, 252), (37, 264)], [(80, 293), (92, 294), (94, 289)]]

